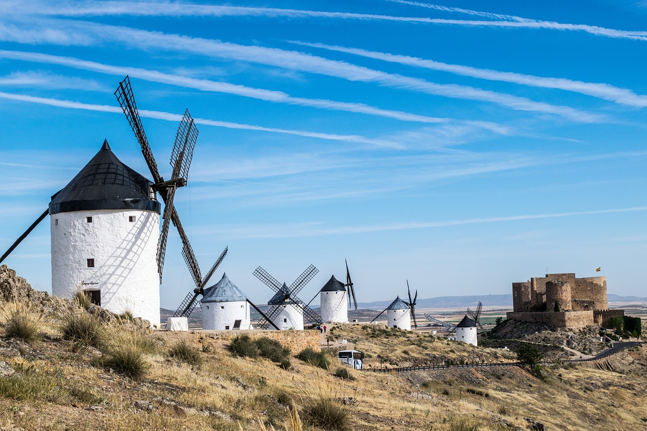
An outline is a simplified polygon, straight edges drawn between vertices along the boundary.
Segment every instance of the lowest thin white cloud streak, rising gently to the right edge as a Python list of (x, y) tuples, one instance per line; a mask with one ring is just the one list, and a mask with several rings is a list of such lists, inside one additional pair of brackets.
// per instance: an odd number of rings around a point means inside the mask
[[(523, 214), (520, 216), (483, 217), (473, 219), (457, 219), (448, 221), (394, 223), (391, 225), (373, 225), (356, 227), (323, 227), (323, 223), (298, 223), (294, 225), (261, 225), (261, 226), (227, 226), (221, 229), (200, 230), (201, 234), (216, 234), (226, 238), (298, 238), (323, 235), (364, 234), (367, 232), (386, 232), (391, 230), (428, 229), (458, 225), (476, 225), (481, 223), (501, 223), (533, 219), (549, 219), (558, 217), (595, 216), (597, 214), (613, 214), (621, 212), (643, 212), (647, 206), (631, 208), (611, 208), (607, 210), (559, 212), (551, 214)], [(194, 228), (194, 233), (196, 229)]]

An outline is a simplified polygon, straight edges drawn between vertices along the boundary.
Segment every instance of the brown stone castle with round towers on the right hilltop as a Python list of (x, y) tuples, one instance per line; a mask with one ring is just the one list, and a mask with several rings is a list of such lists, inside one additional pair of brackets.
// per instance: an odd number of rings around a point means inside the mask
[(607, 326), (611, 317), (624, 316), (624, 310), (609, 310), (606, 294), (606, 277), (546, 274), (512, 283), (514, 311), (507, 318), (569, 329)]

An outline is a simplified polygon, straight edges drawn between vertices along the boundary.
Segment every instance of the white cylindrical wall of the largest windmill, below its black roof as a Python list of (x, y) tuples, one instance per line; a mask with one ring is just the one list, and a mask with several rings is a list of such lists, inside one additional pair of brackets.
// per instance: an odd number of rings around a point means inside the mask
[[(87, 217), (92, 217), (90, 223)], [(131, 311), (159, 327), (159, 219), (156, 212), (144, 210), (50, 216), (52, 295), (71, 299), (77, 290), (100, 291), (105, 309)]]

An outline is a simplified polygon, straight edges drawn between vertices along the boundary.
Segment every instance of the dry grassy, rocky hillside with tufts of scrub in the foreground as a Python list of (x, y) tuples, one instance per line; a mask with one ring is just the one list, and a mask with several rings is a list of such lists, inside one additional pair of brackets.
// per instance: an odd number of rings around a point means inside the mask
[[(12, 276), (3, 279), (11, 289), (0, 286), (2, 292), (21, 291), (13, 287), (22, 281)], [(127, 316), (105, 313), (111, 317), (98, 319), (103, 338), (71, 338), (70, 316), (95, 322), (102, 311), (22, 287), (25, 294), (3, 296), (0, 304), (3, 430), (588, 431), (647, 424), (645, 347), (602, 364), (550, 366), (544, 380), (516, 366), (395, 374), (371, 370), (507, 362), (515, 355), (426, 333), (343, 324), (327, 335), (349, 344), (331, 350), (354, 346), (366, 353), (366, 370), (346, 369), (347, 375), (332, 356), (325, 369), (294, 356), (281, 368), (271, 359), (234, 357), (230, 341), (215, 333), (145, 331)], [(16, 310), (36, 319), (38, 337), (16, 335)], [(141, 372), (131, 373), (133, 367)]]

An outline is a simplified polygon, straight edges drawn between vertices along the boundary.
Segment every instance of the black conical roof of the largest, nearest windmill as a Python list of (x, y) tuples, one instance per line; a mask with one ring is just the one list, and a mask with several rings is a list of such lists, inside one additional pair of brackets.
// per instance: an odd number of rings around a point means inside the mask
[(49, 214), (87, 210), (149, 210), (160, 212), (151, 198), (151, 182), (117, 159), (108, 141), (76, 177), (52, 196)]

